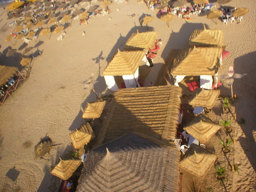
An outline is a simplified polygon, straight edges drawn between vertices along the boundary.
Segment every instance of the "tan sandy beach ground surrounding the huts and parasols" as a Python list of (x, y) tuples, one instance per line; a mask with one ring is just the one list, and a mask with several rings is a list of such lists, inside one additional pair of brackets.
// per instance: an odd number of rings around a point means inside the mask
[[(191, 2), (188, 1), (186, 5), (190, 6)], [(220, 7), (216, 1), (209, 2), (216, 5), (213, 9)], [(101, 2), (94, 4), (101, 5)], [(158, 51), (158, 57), (154, 59), (154, 67), (150, 68), (145, 79), (145, 86), (156, 81), (158, 71), (171, 49), (188, 47), (189, 36), (195, 29), (203, 29), (203, 24), (210, 29), (222, 29), (226, 50), (231, 54), (223, 59), (219, 75), (226, 74), (230, 65), (236, 73), (247, 73), (247, 76), (236, 79), (233, 84), (233, 91), (238, 99), (232, 104), (232, 110), (237, 114), (237, 121), (241, 118), (245, 120), (241, 125), (234, 123), (237, 141), (235, 161), (241, 165), (239, 174), (230, 173), (232, 176), (227, 181), (226, 189), (216, 181), (214, 166), (204, 178), (194, 177), (198, 179), (202, 191), (256, 191), (256, 4), (254, 0), (233, 0), (225, 6), (247, 7), (250, 11), (243, 16), (240, 23), (228, 25), (220, 20), (215, 24), (213, 20), (206, 18), (207, 14), (192, 16), (194, 19), (190, 21), (176, 16), (168, 28), (165, 22), (157, 18), (157, 10), (148, 10), (144, 3), (138, 4), (135, 0), (121, 4), (113, 2), (109, 5), (110, 14), (92, 17), (89, 25), (79, 25), (79, 20), (72, 19), (71, 27), (65, 29), (66, 36), (61, 41), (57, 40), (59, 34), (51, 33), (50, 40), (39, 35), (37, 42), (29, 42), (27, 47), (36, 46), (33, 52), (41, 51), (42, 55), (35, 55), (29, 78), (0, 106), (0, 189), (58, 191), (60, 179), (51, 175), (50, 170), (58, 163), (59, 157), (72, 147), (69, 134), (86, 122), (82, 119), (81, 109), (85, 108), (87, 102), (96, 101), (93, 91), (90, 88), (84, 89), (83, 81), (93, 73), (93, 80), (99, 81), (94, 85), (98, 95), (101, 97), (104, 94), (113, 94), (107, 90), (105, 80), (100, 74), (117, 49), (123, 50), (132, 33), (137, 29), (140, 32), (147, 31), (146, 26), (140, 26), (139, 19), (143, 14), (148, 14), (155, 18), (149, 23), (149, 30), (158, 32), (163, 44)], [(11, 46), (17, 49), (14, 56), (18, 58), (16, 61), (14, 57), (5, 57), (3, 54), (0, 65), (20, 67), (23, 42), (17, 40), (14, 46), (5, 42), (6, 35), (12, 32), (8, 25), (11, 21), (7, 20), (6, 10), (3, 8), (0, 8), (0, 14), (0, 51), (6, 53), (7, 47)], [(128, 16), (132, 14), (135, 16)], [(46, 26), (47, 24), (44, 25)], [(82, 36), (83, 32), (86, 35)], [(14, 39), (12, 41), (15, 42)], [(220, 91), (220, 95), (230, 96), (230, 87), (225, 82)], [(221, 104), (217, 103), (216, 106), (218, 105)], [(220, 113), (216, 114), (212, 116), (221, 124)], [(51, 148), (50, 154), (45, 157), (48, 160), (35, 159), (34, 146), (46, 135), (54, 144), (59, 145)], [(218, 140), (218, 134), (215, 134), (207, 142), (212, 148), (219, 148), (219, 151), (215, 151), (216, 154), (221, 152)], [(188, 191), (186, 181), (191, 175), (185, 170), (181, 171), (184, 174), (183, 191)]]

